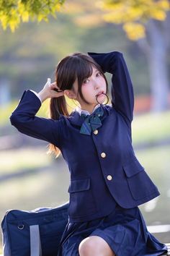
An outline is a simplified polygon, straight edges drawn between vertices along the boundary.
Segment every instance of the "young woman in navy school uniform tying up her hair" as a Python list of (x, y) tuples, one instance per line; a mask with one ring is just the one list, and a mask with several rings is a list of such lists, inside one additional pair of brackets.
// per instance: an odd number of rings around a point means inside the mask
[[(112, 101), (105, 72), (112, 74)], [(120, 52), (76, 53), (60, 61), (55, 82), (27, 90), (11, 116), (19, 132), (50, 142), (68, 163), (68, 224), (58, 255), (162, 255), (138, 205), (159, 195), (132, 146), (133, 85)], [(66, 98), (79, 102), (68, 114)], [(35, 116), (50, 99), (51, 119)]]

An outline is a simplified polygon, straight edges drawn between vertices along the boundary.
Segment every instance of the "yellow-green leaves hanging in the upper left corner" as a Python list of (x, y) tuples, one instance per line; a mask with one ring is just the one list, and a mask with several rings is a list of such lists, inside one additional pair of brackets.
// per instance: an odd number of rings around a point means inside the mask
[(12, 32), (19, 23), (30, 20), (48, 21), (48, 15), (55, 17), (65, 0), (0, 0), (0, 21), (5, 30), (10, 27)]

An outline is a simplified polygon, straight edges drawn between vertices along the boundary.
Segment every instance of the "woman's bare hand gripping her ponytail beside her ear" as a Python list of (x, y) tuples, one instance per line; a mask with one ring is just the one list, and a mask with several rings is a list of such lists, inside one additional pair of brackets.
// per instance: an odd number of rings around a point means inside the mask
[[(55, 90), (58, 90), (55, 91)], [(40, 98), (45, 101), (47, 98), (58, 98), (64, 95), (64, 91), (61, 91), (60, 88), (56, 85), (56, 82), (50, 83), (50, 78), (48, 78), (48, 82), (46, 82), (44, 88), (38, 93)]]

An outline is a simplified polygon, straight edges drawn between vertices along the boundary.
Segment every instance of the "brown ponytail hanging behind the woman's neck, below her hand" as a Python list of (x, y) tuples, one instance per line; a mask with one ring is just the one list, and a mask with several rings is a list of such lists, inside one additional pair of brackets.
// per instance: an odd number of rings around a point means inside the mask
[[(69, 116), (66, 106), (66, 98), (64, 97), (64, 95), (58, 98), (50, 98), (50, 118), (58, 120), (60, 114), (63, 114), (63, 116)], [(56, 155), (56, 158), (58, 158), (61, 150), (55, 145), (50, 144), (48, 148), (48, 153), (54, 153)]]

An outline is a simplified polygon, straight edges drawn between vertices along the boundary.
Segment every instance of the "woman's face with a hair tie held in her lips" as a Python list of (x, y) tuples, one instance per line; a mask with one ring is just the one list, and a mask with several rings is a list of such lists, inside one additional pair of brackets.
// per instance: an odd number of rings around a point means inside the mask
[[(99, 72), (99, 70), (95, 67), (92, 67), (93, 72), (91, 74), (91, 77), (88, 77), (84, 80), (82, 86), (81, 86), (81, 92), (84, 95), (84, 98), (86, 101), (89, 102), (89, 104), (86, 104), (80, 97), (78, 93), (78, 81), (73, 83), (73, 91), (76, 95), (76, 100), (79, 101), (81, 108), (84, 110), (89, 111), (90, 113), (93, 111), (94, 107), (99, 104), (103, 103), (105, 100), (105, 95), (99, 95), (96, 97), (99, 93), (106, 93), (107, 87), (106, 82), (104, 80), (104, 77), (102, 77), (102, 74)], [(98, 101), (98, 102), (97, 102)]]

